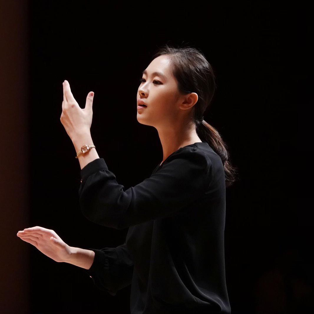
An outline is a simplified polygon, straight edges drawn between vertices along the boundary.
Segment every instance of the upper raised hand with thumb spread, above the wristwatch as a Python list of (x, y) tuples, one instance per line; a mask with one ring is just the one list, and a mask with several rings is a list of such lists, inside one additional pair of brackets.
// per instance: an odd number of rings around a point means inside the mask
[(60, 121), (67, 131), (68, 136), (73, 140), (73, 138), (78, 137), (80, 134), (90, 132), (93, 119), (94, 92), (88, 93), (85, 108), (81, 109), (71, 92), (69, 82), (65, 80), (62, 85), (63, 101)]

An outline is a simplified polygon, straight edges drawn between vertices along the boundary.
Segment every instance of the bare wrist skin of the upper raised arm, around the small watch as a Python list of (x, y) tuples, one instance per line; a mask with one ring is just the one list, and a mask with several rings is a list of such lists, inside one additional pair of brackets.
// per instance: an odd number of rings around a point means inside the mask
[[(78, 152), (84, 144), (94, 145), (92, 137), (91, 137), (89, 132), (85, 132), (83, 134), (76, 135), (74, 138), (72, 138), (72, 143), (74, 145), (75, 152)], [(90, 149), (90, 151), (86, 152), (85, 154), (83, 154), (83, 153), (79, 154), (78, 155), (78, 161), (79, 161), (79, 164), (81, 166), (81, 169), (83, 169), (91, 161), (98, 159), (98, 158), (99, 158), (99, 156), (97, 154), (95, 147)]]

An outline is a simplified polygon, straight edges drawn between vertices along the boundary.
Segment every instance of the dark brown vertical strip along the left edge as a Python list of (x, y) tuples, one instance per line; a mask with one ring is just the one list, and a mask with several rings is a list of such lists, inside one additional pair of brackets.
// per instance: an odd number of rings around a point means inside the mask
[(29, 9), (0, 0), (0, 312), (28, 314), (30, 245), (16, 236), (29, 226)]

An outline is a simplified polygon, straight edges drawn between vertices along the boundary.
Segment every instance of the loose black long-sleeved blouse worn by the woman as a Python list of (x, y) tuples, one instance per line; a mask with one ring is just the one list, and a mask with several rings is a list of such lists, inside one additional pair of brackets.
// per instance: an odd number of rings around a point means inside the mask
[(225, 279), (225, 172), (206, 142), (179, 148), (151, 176), (124, 189), (103, 158), (81, 170), (84, 216), (124, 244), (92, 249), (85, 270), (116, 295), (131, 284), (131, 314), (230, 313)]

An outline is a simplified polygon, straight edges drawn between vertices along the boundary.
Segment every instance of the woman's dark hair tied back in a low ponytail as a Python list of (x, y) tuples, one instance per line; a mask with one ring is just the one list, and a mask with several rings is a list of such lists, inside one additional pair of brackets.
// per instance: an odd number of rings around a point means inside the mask
[(216, 90), (215, 76), (212, 66), (201, 51), (189, 46), (161, 46), (154, 53), (153, 59), (161, 55), (169, 55), (171, 71), (178, 83), (181, 94), (196, 93), (198, 101), (193, 106), (193, 122), (199, 138), (218, 154), (225, 168), (226, 187), (236, 181), (236, 167), (230, 163), (227, 145), (218, 131), (203, 120), (204, 111), (213, 99)]

